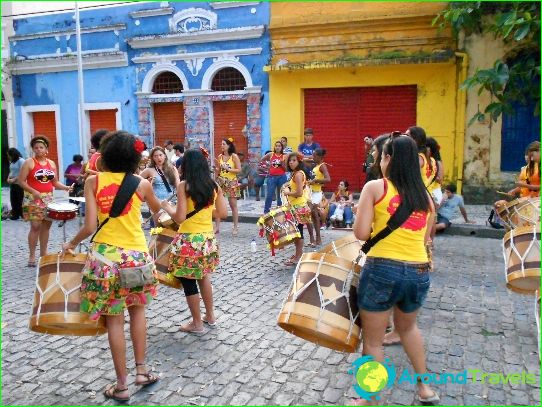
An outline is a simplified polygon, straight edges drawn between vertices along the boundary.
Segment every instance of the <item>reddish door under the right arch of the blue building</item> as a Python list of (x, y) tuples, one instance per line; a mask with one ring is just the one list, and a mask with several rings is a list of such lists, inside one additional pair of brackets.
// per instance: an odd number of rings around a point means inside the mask
[(248, 157), (247, 138), (243, 135), (243, 127), (247, 124), (246, 100), (229, 100), (213, 102), (213, 116), (215, 122), (214, 148), (215, 156), (218, 157), (220, 145), (225, 138), (233, 138), (235, 150)]

